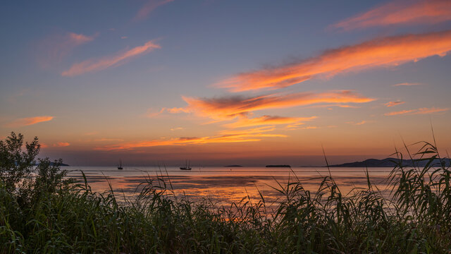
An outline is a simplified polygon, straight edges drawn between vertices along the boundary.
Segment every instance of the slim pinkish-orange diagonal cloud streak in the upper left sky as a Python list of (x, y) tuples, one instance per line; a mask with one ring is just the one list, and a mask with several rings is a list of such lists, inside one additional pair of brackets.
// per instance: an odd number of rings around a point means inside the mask
[(75, 63), (67, 71), (63, 71), (61, 75), (71, 77), (75, 75), (81, 75), (83, 73), (101, 71), (109, 67), (120, 66), (123, 63), (126, 63), (131, 58), (142, 54), (147, 54), (149, 52), (152, 52), (152, 50), (154, 49), (161, 49), (161, 47), (158, 44), (155, 44), (154, 40), (151, 40), (149, 42), (146, 42), (142, 46), (132, 48), (125, 52), (117, 53), (114, 56), (104, 56), (99, 59), (89, 59), (82, 61), (81, 63)]

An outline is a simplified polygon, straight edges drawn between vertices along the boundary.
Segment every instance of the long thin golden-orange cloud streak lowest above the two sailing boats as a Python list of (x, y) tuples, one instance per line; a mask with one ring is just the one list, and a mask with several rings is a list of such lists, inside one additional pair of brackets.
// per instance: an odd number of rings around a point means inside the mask
[(285, 138), (286, 135), (266, 133), (273, 131), (273, 128), (254, 128), (243, 131), (222, 131), (218, 135), (206, 137), (182, 137), (173, 138), (171, 140), (151, 140), (136, 143), (122, 143), (118, 145), (106, 145), (104, 147), (97, 147), (96, 150), (132, 150), (142, 147), (155, 147), (163, 145), (199, 145), (209, 143), (242, 143), (242, 142), (256, 142), (261, 138), (279, 137)]

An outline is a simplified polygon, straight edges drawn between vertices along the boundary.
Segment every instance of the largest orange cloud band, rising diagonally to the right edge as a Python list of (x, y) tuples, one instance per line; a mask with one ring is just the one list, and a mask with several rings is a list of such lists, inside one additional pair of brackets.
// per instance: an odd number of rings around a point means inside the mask
[(445, 56), (450, 50), (451, 30), (378, 38), (328, 50), (319, 56), (287, 66), (240, 73), (216, 85), (233, 92), (276, 89), (302, 83), (318, 75), (331, 77), (348, 71), (396, 66), (428, 56)]

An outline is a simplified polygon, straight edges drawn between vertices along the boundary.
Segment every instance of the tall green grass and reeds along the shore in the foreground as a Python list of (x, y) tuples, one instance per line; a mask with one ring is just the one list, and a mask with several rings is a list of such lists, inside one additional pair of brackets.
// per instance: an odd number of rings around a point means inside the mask
[[(263, 196), (230, 207), (177, 199), (150, 179), (121, 205), (86, 182), (35, 185), (23, 198), (4, 181), (0, 253), (451, 253), (451, 171), (433, 164), (434, 145), (417, 155), (431, 163), (395, 167), (390, 200), (369, 177), (344, 195), (325, 176), (316, 193), (299, 181), (276, 187), (275, 210)], [(55, 179), (47, 173), (44, 183)]]

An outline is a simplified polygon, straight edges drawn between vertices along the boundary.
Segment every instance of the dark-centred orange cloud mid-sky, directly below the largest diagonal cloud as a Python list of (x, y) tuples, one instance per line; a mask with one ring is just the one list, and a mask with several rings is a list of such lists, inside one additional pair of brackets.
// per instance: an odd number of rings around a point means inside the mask
[(212, 99), (183, 97), (183, 99), (187, 102), (187, 107), (168, 111), (171, 113), (189, 112), (220, 121), (234, 119), (237, 116), (247, 116), (251, 111), (262, 109), (280, 109), (319, 103), (364, 103), (374, 100), (352, 91), (330, 91), (317, 94), (299, 92), (289, 95), (233, 96)]

